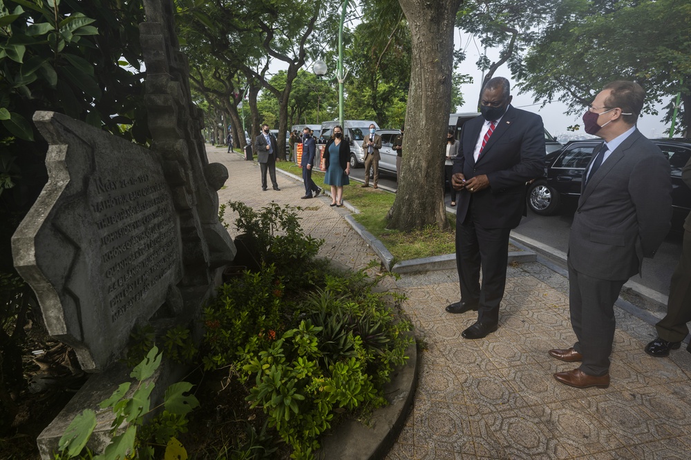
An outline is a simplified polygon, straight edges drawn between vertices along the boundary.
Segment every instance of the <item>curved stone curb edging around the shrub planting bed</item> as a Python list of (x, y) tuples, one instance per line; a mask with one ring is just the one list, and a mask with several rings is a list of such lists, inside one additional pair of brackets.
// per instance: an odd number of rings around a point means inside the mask
[(405, 366), (396, 370), (384, 387), (388, 406), (374, 410), (367, 426), (353, 419), (343, 422), (330, 436), (321, 439), (322, 447), (316, 452), (316, 458), (377, 460), (386, 457), (403, 429), (415, 400), (417, 341), (412, 331), (406, 334), (413, 337), (413, 343), (406, 349), (408, 361)]

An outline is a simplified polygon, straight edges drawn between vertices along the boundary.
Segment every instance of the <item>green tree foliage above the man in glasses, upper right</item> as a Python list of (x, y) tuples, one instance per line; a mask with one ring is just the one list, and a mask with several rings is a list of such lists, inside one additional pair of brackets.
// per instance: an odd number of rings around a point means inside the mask
[(563, 1), (517, 69), (518, 84), (536, 101), (557, 99), (577, 113), (609, 81), (637, 81), (646, 113), (681, 93), (688, 130), (690, 18), (691, 3), (682, 0)]

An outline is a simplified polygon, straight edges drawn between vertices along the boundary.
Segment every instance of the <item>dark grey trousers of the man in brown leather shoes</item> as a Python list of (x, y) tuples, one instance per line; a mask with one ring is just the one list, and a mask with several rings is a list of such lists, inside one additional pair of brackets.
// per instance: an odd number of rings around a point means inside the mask
[(580, 370), (588, 375), (609, 372), (609, 355), (614, 341), (614, 302), (626, 282), (587, 276), (569, 266), (569, 311), (576, 333), (574, 350), (583, 354)]

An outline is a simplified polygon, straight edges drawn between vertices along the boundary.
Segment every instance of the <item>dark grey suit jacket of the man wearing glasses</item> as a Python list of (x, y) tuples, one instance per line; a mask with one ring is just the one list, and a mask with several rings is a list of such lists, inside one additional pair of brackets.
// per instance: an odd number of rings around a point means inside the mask
[(670, 230), (670, 163), (635, 130), (586, 184), (587, 169), (569, 234), (569, 261), (589, 277), (629, 279)]

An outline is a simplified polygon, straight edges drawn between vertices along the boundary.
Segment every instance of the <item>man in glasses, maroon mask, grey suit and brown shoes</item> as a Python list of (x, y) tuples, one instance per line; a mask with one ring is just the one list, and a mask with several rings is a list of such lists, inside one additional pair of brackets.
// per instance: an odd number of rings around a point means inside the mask
[(670, 163), (636, 129), (644, 96), (638, 83), (614, 81), (583, 115), (585, 132), (605, 142), (583, 173), (569, 234), (569, 310), (576, 343), (549, 351), (562, 361), (581, 361), (579, 368), (554, 374), (576, 388), (609, 386), (614, 302), (670, 229)]

